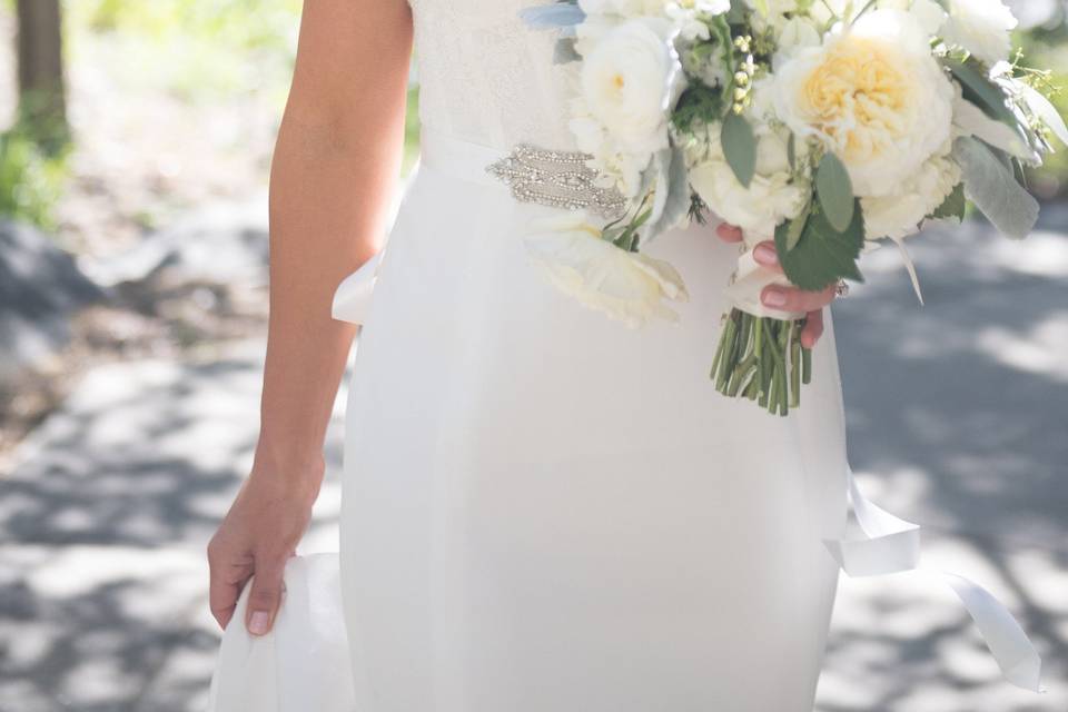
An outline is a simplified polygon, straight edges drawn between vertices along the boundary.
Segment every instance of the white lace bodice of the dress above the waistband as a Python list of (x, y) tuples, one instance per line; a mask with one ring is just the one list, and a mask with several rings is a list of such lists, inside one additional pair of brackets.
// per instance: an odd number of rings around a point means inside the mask
[(553, 63), (554, 31), (518, 17), (540, 0), (409, 1), (424, 126), (502, 150), (574, 148), (566, 110), (574, 69)]

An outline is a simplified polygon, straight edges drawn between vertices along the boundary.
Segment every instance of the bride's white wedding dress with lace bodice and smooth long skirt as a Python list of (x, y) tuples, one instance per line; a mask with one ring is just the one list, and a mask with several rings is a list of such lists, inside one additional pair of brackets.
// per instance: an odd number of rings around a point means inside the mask
[[(789, 417), (715, 392), (738, 249), (710, 227), (647, 246), (689, 287), (678, 325), (627, 329), (527, 261), (522, 229), (558, 209), (485, 168), (518, 144), (574, 150), (571, 70), (520, 20), (531, 2), (413, 2), (421, 165), (380, 264), (335, 305), (364, 325), (340, 576), (294, 560), (265, 639), (243, 600), (214, 711), (809, 712), (840, 566), (916, 565), (917, 528), (856, 490), (866, 536), (843, 540), (830, 325)], [(1037, 685), (1011, 617), (958, 592)]]

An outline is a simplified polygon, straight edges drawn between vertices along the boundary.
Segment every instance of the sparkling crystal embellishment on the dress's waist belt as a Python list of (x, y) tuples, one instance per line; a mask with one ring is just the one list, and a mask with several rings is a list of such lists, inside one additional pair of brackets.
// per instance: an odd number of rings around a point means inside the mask
[(521, 144), (506, 157), (486, 166), (521, 202), (553, 208), (589, 209), (604, 218), (626, 211), (626, 199), (613, 188), (596, 184), (597, 171), (586, 166), (587, 154), (550, 151)]

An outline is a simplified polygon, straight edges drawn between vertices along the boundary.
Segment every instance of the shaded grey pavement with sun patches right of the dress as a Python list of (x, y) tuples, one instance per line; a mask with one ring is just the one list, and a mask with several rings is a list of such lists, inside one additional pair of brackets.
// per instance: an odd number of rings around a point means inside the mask
[(1010, 605), (1049, 693), (998, 681), (952, 594), (903, 574), (843, 580), (821, 712), (1068, 705), (1068, 220), (1050, 212), (1021, 244), (979, 225), (910, 243), (923, 307), (893, 249), (872, 255), (834, 312), (862, 487), (924, 525), (927, 564)]

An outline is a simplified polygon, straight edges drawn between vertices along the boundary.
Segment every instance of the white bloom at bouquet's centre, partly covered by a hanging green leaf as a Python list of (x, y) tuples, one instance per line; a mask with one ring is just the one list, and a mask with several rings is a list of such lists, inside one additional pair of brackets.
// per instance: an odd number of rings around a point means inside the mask
[(690, 169), (690, 185), (721, 218), (753, 239), (767, 239), (780, 222), (797, 217), (811, 188), (793, 179), (783, 132), (767, 125), (756, 130), (756, 175), (748, 188), (723, 156), (719, 125), (710, 128), (706, 151)]

